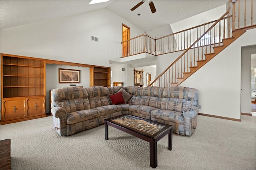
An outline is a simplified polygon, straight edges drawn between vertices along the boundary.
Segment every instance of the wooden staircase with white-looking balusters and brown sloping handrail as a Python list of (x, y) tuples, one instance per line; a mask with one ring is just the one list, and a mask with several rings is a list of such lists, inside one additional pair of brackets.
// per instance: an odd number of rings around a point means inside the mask
[[(236, 3), (238, 4), (237, 6)], [(253, 6), (253, 0), (249, 3)], [(244, 27), (240, 26), (240, 11), (242, 11), (240, 8), (243, 6), (240, 4), (246, 6), (246, 0), (230, 0), (227, 12), (210, 27), (208, 26), (209, 28), (149, 86), (178, 86), (199, 68), (204, 66), (204, 64), (208, 63), (208, 61), (218, 55), (223, 49), (228, 47), (228, 45), (238, 39), (238, 37), (244, 34), (246, 29), (255, 28), (256, 24), (255, 22), (253, 23), (253, 8), (248, 12), (246, 11), (246, 7), (244, 9)], [(232, 10), (230, 10), (231, 8)], [(236, 20), (235, 16), (236, 10), (238, 11), (238, 20)], [(232, 11), (232, 15), (230, 14), (230, 11)], [(247, 13), (251, 15), (249, 26), (246, 23)], [(210, 35), (210, 37), (206, 38), (206, 35)]]

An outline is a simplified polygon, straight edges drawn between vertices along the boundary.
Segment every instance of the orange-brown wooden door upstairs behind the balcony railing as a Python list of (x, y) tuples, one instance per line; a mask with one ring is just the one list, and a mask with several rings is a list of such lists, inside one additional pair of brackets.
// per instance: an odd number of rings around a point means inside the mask
[[(130, 27), (122, 25), (122, 41), (130, 39)], [(122, 57), (130, 55), (130, 41), (122, 43)]]

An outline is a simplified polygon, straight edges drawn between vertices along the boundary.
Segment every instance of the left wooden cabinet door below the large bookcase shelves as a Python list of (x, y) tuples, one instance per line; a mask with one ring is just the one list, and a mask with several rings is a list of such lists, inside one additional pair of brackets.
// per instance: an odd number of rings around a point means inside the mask
[(8, 98), (2, 102), (2, 121), (26, 117), (26, 98)]

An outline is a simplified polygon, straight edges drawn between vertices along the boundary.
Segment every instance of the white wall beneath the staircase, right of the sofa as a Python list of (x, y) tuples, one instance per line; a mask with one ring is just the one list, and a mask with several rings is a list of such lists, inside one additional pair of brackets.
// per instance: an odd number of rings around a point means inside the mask
[(255, 35), (256, 29), (247, 30), (180, 84), (199, 90), (200, 113), (240, 119), (241, 47), (256, 45)]

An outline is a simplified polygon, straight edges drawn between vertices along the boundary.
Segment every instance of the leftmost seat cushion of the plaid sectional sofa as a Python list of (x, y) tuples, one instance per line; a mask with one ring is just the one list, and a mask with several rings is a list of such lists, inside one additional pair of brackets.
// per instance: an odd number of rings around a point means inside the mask
[(98, 110), (87, 109), (87, 110), (80, 110), (68, 113), (67, 116), (67, 124), (74, 124), (81, 121), (86, 121), (90, 119), (94, 119), (100, 116), (100, 112)]

